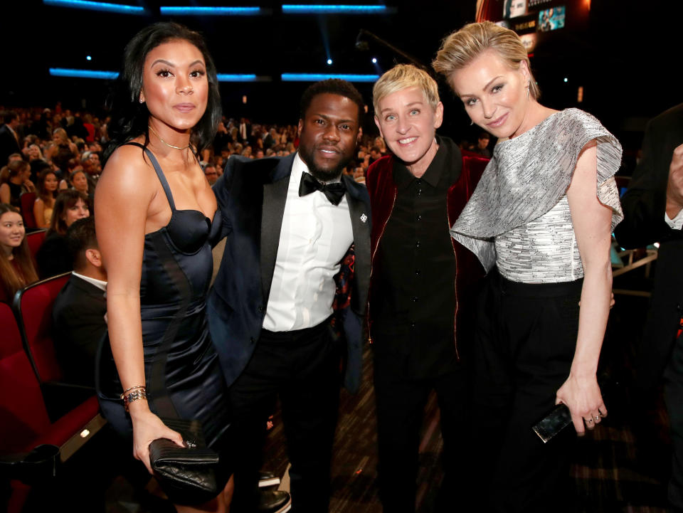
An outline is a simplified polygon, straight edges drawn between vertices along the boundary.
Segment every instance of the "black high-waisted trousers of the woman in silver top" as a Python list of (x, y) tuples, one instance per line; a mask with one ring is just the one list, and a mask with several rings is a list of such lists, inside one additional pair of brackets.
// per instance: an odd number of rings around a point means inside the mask
[(531, 430), (555, 404), (578, 333), (583, 280), (524, 284), (498, 275), (478, 308), (473, 403), (482, 511), (573, 511), (569, 427), (544, 444)]

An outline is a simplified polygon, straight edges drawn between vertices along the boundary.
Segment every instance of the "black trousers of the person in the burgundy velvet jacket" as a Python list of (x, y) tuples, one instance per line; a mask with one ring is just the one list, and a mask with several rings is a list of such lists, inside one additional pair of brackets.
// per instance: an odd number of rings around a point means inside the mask
[(391, 354), (374, 355), (374, 385), (377, 404), (379, 452), (378, 484), (385, 513), (415, 512), (415, 480), (418, 475), (420, 426), (429, 393), (436, 391), (443, 436), (444, 479), (436, 512), (457, 511), (454, 497), (463, 498), (469, 473), (465, 457), (469, 440), (470, 396), (465, 370), (451, 371), (428, 379), (408, 379), (396, 371)]

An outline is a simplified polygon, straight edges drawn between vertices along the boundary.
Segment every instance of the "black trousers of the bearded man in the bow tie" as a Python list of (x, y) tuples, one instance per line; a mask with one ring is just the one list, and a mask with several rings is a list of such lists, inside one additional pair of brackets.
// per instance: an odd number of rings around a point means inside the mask
[(255, 511), (266, 422), (278, 395), (292, 465), (292, 512), (327, 512), (340, 349), (328, 321), (295, 332), (262, 331), (251, 360), (229, 391), (235, 512)]

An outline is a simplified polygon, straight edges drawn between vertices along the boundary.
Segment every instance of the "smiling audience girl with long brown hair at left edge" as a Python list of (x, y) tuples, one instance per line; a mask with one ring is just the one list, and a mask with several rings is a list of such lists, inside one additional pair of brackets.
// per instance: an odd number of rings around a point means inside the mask
[(21, 214), (0, 203), (0, 301), (11, 302), (17, 290), (36, 280)]

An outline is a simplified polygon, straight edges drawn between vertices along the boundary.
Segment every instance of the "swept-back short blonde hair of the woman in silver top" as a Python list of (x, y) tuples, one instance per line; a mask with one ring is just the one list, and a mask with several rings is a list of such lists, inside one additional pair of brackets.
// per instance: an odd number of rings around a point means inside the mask
[[(519, 36), (509, 28), (496, 25), (491, 21), (470, 23), (453, 32), (443, 40), (432, 67), (437, 73), (445, 75), (450, 83), (452, 73), (465, 68), (487, 50), (495, 51), (512, 69), (519, 69), (522, 61), (529, 68), (529, 92), (538, 99), (541, 95), (539, 85), (531, 74), (529, 56)], [(452, 83), (450, 84), (452, 87)]]

